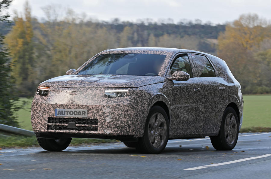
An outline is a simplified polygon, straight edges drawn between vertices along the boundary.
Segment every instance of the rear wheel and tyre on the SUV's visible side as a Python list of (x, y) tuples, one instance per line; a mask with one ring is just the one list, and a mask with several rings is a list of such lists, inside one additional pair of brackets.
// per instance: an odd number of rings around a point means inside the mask
[(216, 150), (232, 150), (238, 140), (238, 117), (232, 107), (227, 107), (222, 118), (218, 136), (210, 137)]

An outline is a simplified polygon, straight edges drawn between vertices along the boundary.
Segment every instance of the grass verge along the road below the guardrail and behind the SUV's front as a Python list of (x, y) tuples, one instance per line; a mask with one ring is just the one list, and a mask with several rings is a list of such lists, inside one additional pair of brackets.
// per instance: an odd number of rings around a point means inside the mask
[[(95, 139), (95, 138), (73, 138), (70, 145), (80, 145), (80, 144), (99, 144), (99, 143), (109, 143), (116, 142), (116, 140), (109, 139)], [(8, 147), (31, 147), (39, 146), (39, 143), (35, 136), (25, 137), (22, 135), (0, 135), (0, 148)]]

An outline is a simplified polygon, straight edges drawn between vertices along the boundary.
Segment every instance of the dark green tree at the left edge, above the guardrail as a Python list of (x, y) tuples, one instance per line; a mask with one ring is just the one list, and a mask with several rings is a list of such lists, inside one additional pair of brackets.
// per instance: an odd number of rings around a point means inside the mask
[[(0, 21), (1, 22), (9, 22), (8, 14), (5, 13), (5, 10), (10, 6), (10, 0), (2, 0), (0, 1)], [(14, 95), (14, 78), (10, 75), (11, 66), (9, 50), (4, 47), (4, 36), (0, 35), (0, 123), (11, 125), (11, 126), (19, 126), (17, 122), (17, 118), (14, 116), (14, 109), (16, 109), (16, 102), (18, 101), (18, 97)]]

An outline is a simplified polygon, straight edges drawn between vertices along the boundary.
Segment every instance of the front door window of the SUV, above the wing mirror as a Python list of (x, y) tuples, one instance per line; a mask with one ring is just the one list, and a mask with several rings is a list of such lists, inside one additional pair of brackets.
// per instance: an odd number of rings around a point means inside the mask
[(184, 71), (190, 74), (190, 77), (193, 77), (190, 61), (187, 55), (182, 55), (175, 59), (170, 68), (170, 72), (173, 74), (175, 71)]

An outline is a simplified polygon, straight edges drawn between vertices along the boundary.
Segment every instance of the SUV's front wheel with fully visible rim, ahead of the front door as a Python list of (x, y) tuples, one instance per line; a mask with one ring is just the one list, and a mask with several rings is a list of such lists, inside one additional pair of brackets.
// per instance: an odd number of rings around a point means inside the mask
[(169, 120), (167, 113), (160, 106), (151, 108), (146, 124), (144, 135), (139, 138), (136, 150), (141, 153), (160, 153), (167, 145), (169, 137)]

